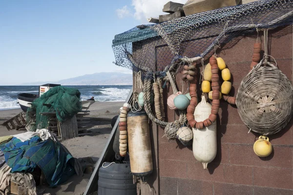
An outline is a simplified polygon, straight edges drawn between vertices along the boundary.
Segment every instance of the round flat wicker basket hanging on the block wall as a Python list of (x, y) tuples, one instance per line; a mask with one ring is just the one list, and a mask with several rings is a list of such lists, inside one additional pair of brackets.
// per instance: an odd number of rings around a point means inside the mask
[(293, 114), (293, 87), (275, 65), (260, 61), (243, 78), (236, 105), (242, 121), (251, 131), (264, 136), (281, 131)]

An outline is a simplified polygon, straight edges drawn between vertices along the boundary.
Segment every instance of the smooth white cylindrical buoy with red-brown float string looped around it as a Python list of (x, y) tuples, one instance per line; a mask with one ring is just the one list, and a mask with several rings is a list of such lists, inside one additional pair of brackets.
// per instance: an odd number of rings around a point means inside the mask
[[(211, 113), (211, 105), (206, 102), (206, 98), (203, 96), (201, 102), (195, 107), (194, 119), (197, 122), (204, 121), (209, 118)], [(192, 128), (193, 143), (192, 152), (195, 159), (201, 162), (204, 169), (207, 169), (208, 163), (210, 163), (217, 154), (217, 126), (216, 121), (209, 127), (203, 129)]]

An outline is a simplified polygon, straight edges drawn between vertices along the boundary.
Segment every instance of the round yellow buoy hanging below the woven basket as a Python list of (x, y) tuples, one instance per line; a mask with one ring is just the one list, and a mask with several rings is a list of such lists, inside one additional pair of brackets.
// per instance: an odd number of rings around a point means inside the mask
[(257, 156), (266, 157), (272, 153), (272, 144), (266, 136), (258, 137), (253, 144), (253, 151)]

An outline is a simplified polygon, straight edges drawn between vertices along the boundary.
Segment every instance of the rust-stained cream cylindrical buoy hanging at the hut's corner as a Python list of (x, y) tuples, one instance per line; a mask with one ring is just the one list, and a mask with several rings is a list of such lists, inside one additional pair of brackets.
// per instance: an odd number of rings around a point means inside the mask
[(144, 109), (127, 115), (128, 150), (131, 173), (147, 176), (152, 173), (152, 157), (148, 117)]

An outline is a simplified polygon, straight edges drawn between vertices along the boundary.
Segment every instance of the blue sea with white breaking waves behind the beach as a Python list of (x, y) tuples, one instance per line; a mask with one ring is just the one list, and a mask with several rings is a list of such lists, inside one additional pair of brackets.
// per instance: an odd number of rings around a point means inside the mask
[[(80, 85), (65, 86), (78, 89), (82, 100), (95, 97), (96, 101), (125, 101), (131, 85)], [(0, 86), (0, 110), (20, 108), (17, 95), (39, 94), (39, 86)]]

